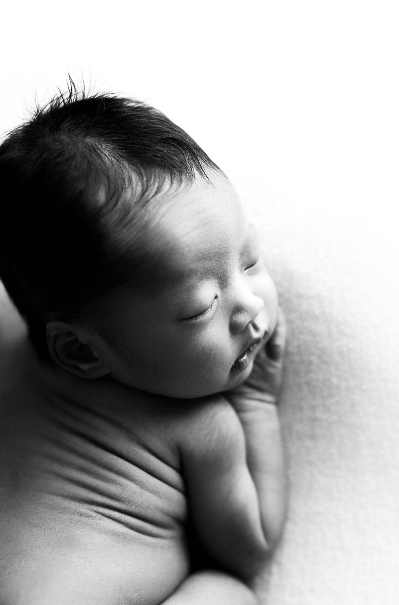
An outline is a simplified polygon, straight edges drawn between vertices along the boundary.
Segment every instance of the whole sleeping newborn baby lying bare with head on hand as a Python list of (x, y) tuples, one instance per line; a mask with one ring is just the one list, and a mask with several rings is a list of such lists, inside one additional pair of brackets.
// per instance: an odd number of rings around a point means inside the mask
[(71, 93), (7, 137), (0, 187), (30, 337), (0, 403), (0, 602), (255, 603), (285, 328), (228, 178), (153, 108)]

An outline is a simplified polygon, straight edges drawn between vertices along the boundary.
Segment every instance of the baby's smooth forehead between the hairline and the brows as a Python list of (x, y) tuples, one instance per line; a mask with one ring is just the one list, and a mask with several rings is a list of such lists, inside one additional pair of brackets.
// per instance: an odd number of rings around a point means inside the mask
[(123, 247), (132, 245), (132, 270), (147, 292), (184, 285), (228, 263), (248, 231), (234, 187), (215, 171), (209, 180), (158, 192), (140, 222), (138, 231), (125, 232)]

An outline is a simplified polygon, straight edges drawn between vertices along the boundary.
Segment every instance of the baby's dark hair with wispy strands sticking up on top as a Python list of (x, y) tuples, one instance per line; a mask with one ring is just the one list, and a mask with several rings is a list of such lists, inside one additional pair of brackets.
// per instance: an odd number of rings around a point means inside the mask
[(77, 93), (72, 82), (8, 135), (0, 146), (0, 278), (40, 358), (49, 359), (49, 313), (85, 318), (105, 293), (140, 283), (131, 249), (124, 262), (127, 229), (131, 241), (161, 186), (207, 178), (205, 168), (219, 170), (164, 114)]

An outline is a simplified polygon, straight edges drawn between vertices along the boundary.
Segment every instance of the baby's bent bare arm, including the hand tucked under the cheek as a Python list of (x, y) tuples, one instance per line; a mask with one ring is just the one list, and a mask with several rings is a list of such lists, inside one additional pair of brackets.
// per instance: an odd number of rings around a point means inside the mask
[(244, 580), (260, 571), (281, 534), (286, 512), (275, 406), (284, 333), (281, 321), (268, 347), (275, 353), (279, 347), (276, 359), (261, 352), (251, 381), (226, 398), (213, 397), (211, 407), (204, 404), (190, 442), (182, 446), (199, 539), (220, 566)]

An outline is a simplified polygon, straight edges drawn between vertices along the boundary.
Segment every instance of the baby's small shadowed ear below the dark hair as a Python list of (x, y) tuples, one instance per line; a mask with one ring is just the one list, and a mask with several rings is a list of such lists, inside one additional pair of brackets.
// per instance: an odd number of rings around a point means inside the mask
[(81, 342), (75, 327), (63, 321), (47, 324), (47, 346), (53, 361), (81, 378), (101, 378), (109, 373), (91, 344)]

